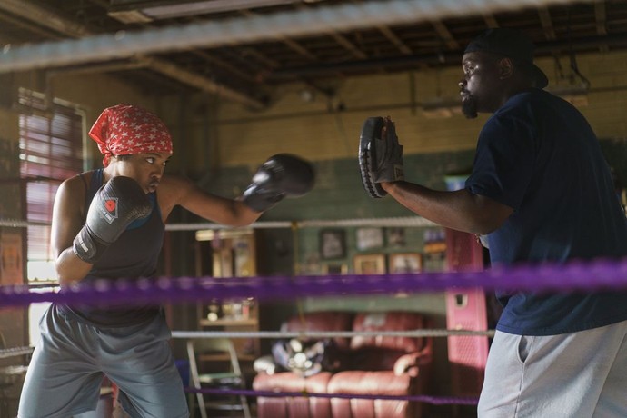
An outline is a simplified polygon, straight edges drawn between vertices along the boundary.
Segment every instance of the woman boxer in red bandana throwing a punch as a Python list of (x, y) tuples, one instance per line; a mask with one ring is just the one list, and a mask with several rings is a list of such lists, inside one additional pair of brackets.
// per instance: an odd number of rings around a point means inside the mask
[[(164, 173), (171, 136), (154, 114), (130, 104), (105, 109), (89, 135), (104, 154), (104, 168), (65, 180), (55, 196), (51, 240), (62, 287), (154, 276), (164, 223), (176, 205), (216, 223), (247, 225), (314, 184), (310, 164), (278, 154), (260, 167), (242, 199), (205, 193)], [(132, 417), (188, 416), (159, 306), (52, 304), (40, 331), (20, 418), (94, 411), (104, 376)]]

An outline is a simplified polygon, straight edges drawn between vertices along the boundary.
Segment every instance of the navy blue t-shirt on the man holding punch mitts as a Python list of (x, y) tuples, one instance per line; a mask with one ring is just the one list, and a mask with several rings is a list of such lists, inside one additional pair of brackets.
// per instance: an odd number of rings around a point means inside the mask
[[(627, 255), (627, 219), (596, 135), (555, 95), (532, 89), (493, 114), (466, 189), (513, 208), (488, 235), (493, 264)], [(505, 333), (572, 333), (627, 320), (627, 291), (497, 297), (504, 310), (496, 328)]]

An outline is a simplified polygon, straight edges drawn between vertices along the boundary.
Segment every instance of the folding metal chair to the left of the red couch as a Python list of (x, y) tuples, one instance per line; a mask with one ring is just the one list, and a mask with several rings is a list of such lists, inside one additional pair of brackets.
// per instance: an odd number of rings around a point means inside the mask
[[(230, 371), (223, 373), (200, 373), (198, 364), (204, 361), (217, 361), (224, 358), (224, 354), (230, 359)], [(246, 384), (235, 347), (228, 338), (201, 338), (187, 341), (187, 356), (189, 357), (190, 377), (195, 389), (201, 388), (237, 388), (245, 389)], [(196, 393), (198, 407), (202, 418), (207, 418), (207, 408), (220, 411), (240, 411), (244, 418), (250, 418), (251, 413), (244, 395), (237, 395), (239, 402), (234, 399), (217, 400), (207, 402), (203, 393)], [(191, 398), (190, 410), (194, 413), (194, 397)]]

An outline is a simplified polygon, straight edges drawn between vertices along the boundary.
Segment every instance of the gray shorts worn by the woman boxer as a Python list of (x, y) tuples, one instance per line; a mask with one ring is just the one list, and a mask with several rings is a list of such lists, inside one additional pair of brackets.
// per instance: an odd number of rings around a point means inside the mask
[(164, 317), (123, 328), (97, 328), (52, 305), (39, 323), (41, 340), (28, 366), (19, 418), (67, 418), (95, 411), (106, 375), (133, 418), (188, 417), (183, 381)]

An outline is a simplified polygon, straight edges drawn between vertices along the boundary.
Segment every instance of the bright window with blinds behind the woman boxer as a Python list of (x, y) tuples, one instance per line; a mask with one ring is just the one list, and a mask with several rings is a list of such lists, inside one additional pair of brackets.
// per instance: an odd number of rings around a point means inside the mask
[[(56, 189), (83, 171), (84, 117), (75, 105), (20, 90), (20, 177), (25, 184), (27, 277), (29, 282), (55, 277), (50, 222)], [(41, 225), (30, 225), (41, 223)]]

